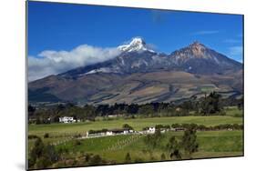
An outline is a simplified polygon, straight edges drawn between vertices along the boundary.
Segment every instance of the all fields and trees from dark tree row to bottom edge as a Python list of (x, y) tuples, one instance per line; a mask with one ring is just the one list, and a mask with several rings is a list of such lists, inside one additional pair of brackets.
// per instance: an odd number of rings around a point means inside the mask
[[(28, 111), (31, 169), (243, 155), (243, 99), (214, 92), (179, 103), (63, 104), (28, 106)], [(81, 122), (60, 124), (60, 116)], [(154, 134), (85, 138), (87, 131), (149, 126), (156, 127)]]

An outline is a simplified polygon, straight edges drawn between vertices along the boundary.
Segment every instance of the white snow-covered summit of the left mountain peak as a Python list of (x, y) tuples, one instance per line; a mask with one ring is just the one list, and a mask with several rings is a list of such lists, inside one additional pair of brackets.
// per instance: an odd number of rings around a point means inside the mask
[(141, 37), (133, 38), (128, 45), (119, 45), (118, 49), (124, 52), (135, 51), (149, 51), (154, 53), (155, 51), (148, 49), (145, 41)]

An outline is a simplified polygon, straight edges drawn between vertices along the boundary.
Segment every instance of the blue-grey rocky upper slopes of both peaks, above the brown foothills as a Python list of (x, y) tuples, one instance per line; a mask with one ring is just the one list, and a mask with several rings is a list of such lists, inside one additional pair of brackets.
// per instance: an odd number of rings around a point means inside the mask
[(128, 45), (119, 45), (122, 51), (117, 57), (67, 71), (62, 76), (84, 76), (97, 73), (131, 74), (159, 70), (185, 71), (194, 74), (223, 74), (240, 70), (242, 65), (225, 55), (194, 42), (173, 53), (166, 55), (150, 50), (140, 37), (133, 38)]

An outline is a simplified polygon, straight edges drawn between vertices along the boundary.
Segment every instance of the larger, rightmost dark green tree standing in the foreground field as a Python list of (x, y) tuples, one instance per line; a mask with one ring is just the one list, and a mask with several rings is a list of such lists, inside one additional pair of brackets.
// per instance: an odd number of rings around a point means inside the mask
[(182, 146), (184, 147), (184, 150), (189, 156), (198, 151), (199, 144), (197, 142), (197, 135), (196, 135), (196, 129), (189, 128), (184, 132), (184, 135), (182, 136)]

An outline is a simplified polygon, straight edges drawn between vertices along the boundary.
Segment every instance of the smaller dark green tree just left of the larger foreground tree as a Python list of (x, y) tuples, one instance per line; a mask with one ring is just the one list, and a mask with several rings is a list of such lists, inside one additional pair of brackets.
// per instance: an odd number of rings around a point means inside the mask
[(175, 136), (171, 136), (169, 138), (169, 143), (167, 144), (166, 148), (167, 148), (167, 151), (169, 152), (170, 158), (174, 158), (174, 159), (181, 158), (179, 142), (176, 140)]

